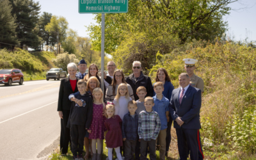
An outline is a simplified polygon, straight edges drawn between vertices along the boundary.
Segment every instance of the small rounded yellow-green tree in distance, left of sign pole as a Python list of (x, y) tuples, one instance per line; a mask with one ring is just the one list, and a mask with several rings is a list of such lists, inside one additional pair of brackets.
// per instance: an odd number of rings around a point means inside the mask
[(74, 31), (73, 29), (69, 29), (67, 31), (67, 38), (62, 45), (64, 51), (68, 52), (68, 54), (76, 53), (76, 38), (77, 38), (77, 32)]

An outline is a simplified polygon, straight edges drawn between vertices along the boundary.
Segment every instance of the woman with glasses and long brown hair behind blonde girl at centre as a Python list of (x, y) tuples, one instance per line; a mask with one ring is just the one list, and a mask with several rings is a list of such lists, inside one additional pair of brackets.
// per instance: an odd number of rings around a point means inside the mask
[[(110, 84), (107, 88), (106, 101), (113, 102), (116, 96), (117, 88), (121, 83), (127, 84), (125, 82), (124, 72), (118, 69), (118, 70), (115, 70), (114, 72), (112, 84)], [(133, 91), (130, 84), (127, 84), (127, 86), (128, 86), (130, 97), (132, 100), (134, 100)]]

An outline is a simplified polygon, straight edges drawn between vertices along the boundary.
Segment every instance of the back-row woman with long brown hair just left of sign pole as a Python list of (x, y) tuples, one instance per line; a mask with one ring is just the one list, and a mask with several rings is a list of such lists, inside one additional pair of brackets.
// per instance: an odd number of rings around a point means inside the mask
[[(100, 81), (100, 77), (98, 76), (98, 73), (99, 73), (99, 68), (97, 67), (97, 65), (95, 63), (92, 63), (88, 69), (88, 74), (84, 77), (84, 80), (85, 81), (88, 81), (88, 79), (92, 76), (95, 76), (97, 77), (97, 79), (99, 80), (100, 82), (100, 88), (101, 88), (101, 81)], [(111, 77), (109, 76), (106, 76), (106, 74), (104, 73), (104, 79), (106, 82), (108, 82), (109, 84), (112, 83), (112, 79)], [(106, 86), (105, 86), (105, 83), (103, 83), (104, 85), (104, 97), (106, 97)]]

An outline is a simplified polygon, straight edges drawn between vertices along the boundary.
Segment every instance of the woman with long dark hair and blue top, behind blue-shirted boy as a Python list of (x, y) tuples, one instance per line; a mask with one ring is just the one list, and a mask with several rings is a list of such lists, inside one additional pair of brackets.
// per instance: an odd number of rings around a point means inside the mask
[[(161, 82), (164, 84), (164, 91), (163, 91), (163, 95), (164, 97), (166, 97), (167, 99), (171, 100), (171, 96), (172, 96), (172, 91), (174, 90), (174, 86), (171, 83), (171, 79), (168, 76), (168, 72), (164, 69), (164, 68), (158, 68), (157, 72), (156, 72), (156, 82)], [(154, 84), (153, 84), (154, 86)], [(156, 95), (156, 93), (154, 92), (154, 95)], [(169, 147), (170, 147), (170, 143), (171, 143), (171, 127), (172, 127), (172, 116), (169, 115), (169, 122), (167, 124), (167, 129), (166, 129), (166, 154), (165, 156), (168, 156), (168, 151), (169, 151)]]

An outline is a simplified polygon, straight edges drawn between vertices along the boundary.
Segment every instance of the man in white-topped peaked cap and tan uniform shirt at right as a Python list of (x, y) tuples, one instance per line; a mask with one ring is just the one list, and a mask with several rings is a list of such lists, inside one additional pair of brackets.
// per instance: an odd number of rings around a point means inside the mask
[[(204, 93), (204, 81), (201, 77), (198, 77), (194, 74), (194, 70), (196, 69), (195, 67), (195, 63), (198, 61), (198, 60), (194, 60), (194, 59), (191, 59), (191, 58), (186, 58), (183, 60), (185, 62), (185, 70), (188, 74), (188, 76), (190, 77), (190, 85), (195, 87), (195, 88), (199, 88), (201, 90), (202, 93)], [(201, 137), (200, 137), (200, 132), (198, 130), (198, 138), (199, 138), (199, 142), (200, 143), (198, 145), (198, 150), (200, 152), (198, 152), (198, 157), (199, 159), (204, 159), (204, 154), (203, 154), (203, 150), (202, 150), (202, 143), (201, 143)], [(188, 151), (188, 155), (189, 155), (189, 151)]]

